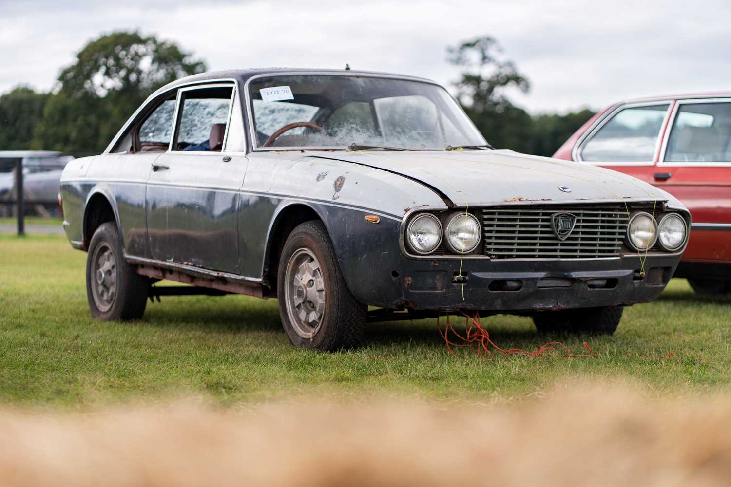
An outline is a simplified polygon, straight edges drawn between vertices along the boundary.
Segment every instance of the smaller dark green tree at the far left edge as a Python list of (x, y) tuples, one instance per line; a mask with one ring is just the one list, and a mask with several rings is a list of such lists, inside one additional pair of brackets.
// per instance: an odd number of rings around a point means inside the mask
[(43, 115), (47, 93), (18, 86), (0, 96), (0, 150), (28, 150)]

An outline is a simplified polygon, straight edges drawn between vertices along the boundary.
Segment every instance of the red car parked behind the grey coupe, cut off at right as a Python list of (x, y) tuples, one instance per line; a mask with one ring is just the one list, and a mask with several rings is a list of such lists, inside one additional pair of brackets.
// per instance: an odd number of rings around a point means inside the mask
[(731, 92), (612, 104), (553, 157), (624, 172), (680, 199), (692, 231), (675, 277), (698, 293), (731, 293)]

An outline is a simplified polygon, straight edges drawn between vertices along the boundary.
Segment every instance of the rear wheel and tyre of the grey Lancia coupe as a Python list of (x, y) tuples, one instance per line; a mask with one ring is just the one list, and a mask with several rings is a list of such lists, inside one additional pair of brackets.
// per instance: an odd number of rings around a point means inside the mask
[(99, 225), (89, 242), (86, 257), (86, 296), (91, 316), (103, 321), (142, 318), (150, 280), (127, 264), (117, 226)]

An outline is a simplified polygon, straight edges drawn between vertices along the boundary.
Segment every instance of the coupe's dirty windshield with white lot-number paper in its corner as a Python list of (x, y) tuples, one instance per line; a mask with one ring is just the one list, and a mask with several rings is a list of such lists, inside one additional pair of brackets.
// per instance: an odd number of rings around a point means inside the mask
[(282, 75), (253, 80), (249, 98), (257, 147), (443, 150), (486, 143), (449, 93), (431, 83)]

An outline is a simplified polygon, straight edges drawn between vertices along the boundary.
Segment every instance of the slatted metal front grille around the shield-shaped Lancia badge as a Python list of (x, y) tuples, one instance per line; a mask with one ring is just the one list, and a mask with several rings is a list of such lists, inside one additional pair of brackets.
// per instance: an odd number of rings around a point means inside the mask
[[(576, 216), (565, 240), (553, 233), (556, 212)], [(491, 258), (597, 258), (619, 256), (629, 217), (624, 204), (586, 204), (484, 208), (482, 221), (485, 255)]]

